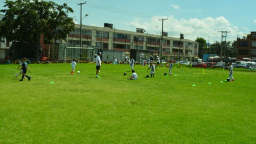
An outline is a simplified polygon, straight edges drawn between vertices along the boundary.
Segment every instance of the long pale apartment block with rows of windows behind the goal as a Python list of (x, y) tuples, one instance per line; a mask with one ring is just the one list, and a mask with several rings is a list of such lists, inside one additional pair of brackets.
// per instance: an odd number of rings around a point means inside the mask
[[(70, 32), (61, 43), (80, 45), (80, 25), (75, 25), (75, 30)], [(82, 25), (82, 45), (94, 46), (100, 50), (123, 51), (130, 55), (130, 49), (152, 50), (153, 56), (160, 56), (161, 37), (156, 34), (144, 33), (137, 28), (136, 32), (118, 30), (113, 24), (104, 24), (104, 27)], [(180, 53), (179, 53), (180, 50)], [(168, 60), (191, 61), (198, 56), (198, 42), (172, 38), (166, 32), (163, 33), (162, 58)]]

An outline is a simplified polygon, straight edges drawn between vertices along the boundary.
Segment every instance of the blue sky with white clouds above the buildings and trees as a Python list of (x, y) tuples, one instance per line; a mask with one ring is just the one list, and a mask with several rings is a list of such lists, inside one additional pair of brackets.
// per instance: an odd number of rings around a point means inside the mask
[[(4, 1), (0, 0), (0, 9)], [(49, 1), (49, 0), (46, 0)], [(256, 0), (51, 0), (67, 3), (74, 13), (69, 14), (80, 24), (104, 27), (114, 25), (118, 30), (136, 31), (143, 28), (148, 34), (160, 35), (162, 20), (168, 36), (185, 39), (204, 38), (208, 43), (221, 42), (222, 32), (227, 41), (242, 38), (256, 31)], [(84, 17), (88, 14), (87, 17)], [(223, 40), (225, 37), (223, 37)]]

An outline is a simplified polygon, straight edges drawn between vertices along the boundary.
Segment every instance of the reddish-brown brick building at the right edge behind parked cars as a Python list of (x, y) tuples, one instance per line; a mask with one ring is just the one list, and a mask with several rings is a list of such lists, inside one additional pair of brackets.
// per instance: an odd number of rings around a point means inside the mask
[(237, 57), (256, 60), (256, 32), (237, 38)]

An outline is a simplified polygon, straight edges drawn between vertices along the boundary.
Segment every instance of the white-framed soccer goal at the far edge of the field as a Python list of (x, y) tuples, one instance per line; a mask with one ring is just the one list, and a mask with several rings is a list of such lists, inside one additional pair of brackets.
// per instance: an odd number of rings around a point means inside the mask
[(94, 61), (94, 48), (64, 47), (64, 63), (66, 60), (78, 60), (80, 62)]

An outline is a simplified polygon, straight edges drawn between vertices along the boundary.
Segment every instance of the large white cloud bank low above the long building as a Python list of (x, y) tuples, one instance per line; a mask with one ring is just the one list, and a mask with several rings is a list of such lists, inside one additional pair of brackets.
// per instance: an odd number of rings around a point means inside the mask
[(144, 28), (148, 34), (159, 35), (162, 30), (162, 21), (159, 19), (162, 18), (168, 18), (168, 20), (164, 20), (164, 32), (168, 32), (168, 36), (179, 38), (180, 32), (182, 32), (185, 39), (196, 40), (197, 37), (202, 37), (208, 42), (208, 36), (210, 35), (210, 43), (215, 40), (221, 40), (221, 32), (219, 31), (230, 31), (230, 33), (227, 33), (227, 40), (233, 41), (239, 33), (249, 30), (248, 28), (233, 26), (224, 16), (180, 20), (174, 18), (174, 16), (153, 16), (149, 21), (142, 22), (142, 19), (136, 18), (126, 25), (134, 26), (135, 28)]

